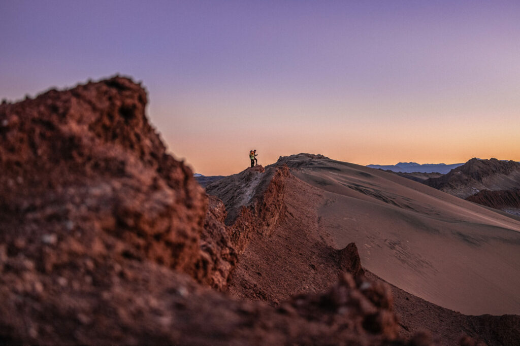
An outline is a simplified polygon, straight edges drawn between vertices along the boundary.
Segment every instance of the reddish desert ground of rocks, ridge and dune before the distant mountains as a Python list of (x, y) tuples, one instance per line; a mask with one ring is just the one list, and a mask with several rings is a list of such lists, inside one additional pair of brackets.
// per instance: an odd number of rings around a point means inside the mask
[(520, 219), (322, 155), (204, 190), (146, 103), (0, 105), (0, 343), (520, 343)]

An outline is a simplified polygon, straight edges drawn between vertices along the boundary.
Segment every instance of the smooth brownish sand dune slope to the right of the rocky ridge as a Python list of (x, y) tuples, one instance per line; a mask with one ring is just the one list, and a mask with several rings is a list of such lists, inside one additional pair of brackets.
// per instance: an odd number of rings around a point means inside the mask
[(387, 282), (464, 314), (520, 314), (520, 221), (423, 184), (326, 157), (293, 155), (292, 174), (322, 191), (318, 233), (358, 245)]

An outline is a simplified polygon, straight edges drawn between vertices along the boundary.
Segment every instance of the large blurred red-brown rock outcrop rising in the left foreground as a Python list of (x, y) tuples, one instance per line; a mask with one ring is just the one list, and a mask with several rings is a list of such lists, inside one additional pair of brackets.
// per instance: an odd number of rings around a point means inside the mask
[[(139, 85), (115, 77), (0, 106), (0, 237), (8, 254), (23, 250), (51, 272), (92, 249), (225, 287), (236, 261), (229, 237), (203, 227), (212, 223), (207, 197), (191, 170), (166, 154), (146, 99)], [(19, 238), (27, 239), (21, 248)]]

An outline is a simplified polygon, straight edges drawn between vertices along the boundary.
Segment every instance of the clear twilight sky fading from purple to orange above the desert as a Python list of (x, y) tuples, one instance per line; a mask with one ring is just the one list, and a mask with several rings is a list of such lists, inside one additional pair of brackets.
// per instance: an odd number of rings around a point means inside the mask
[(0, 0), (0, 98), (121, 74), (203, 175), (520, 161), (518, 1)]

